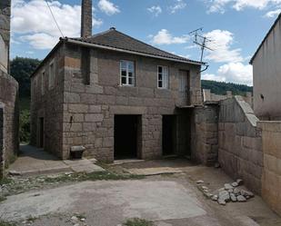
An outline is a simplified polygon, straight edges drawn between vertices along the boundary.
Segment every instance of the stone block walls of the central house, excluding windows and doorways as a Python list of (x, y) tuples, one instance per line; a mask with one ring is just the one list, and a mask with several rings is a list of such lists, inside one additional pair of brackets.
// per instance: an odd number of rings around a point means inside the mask
[[(193, 110), (181, 110), (185, 100), (179, 93), (179, 70), (189, 72), (191, 103), (202, 104), (200, 65), (160, 60), (135, 54), (90, 49), (89, 83), (82, 70), (82, 47), (64, 44), (45, 60), (32, 77), (32, 143), (38, 143), (38, 120), (45, 120), (45, 150), (62, 159), (72, 146), (83, 145), (85, 155), (100, 161), (114, 160), (114, 117), (118, 114), (141, 116), (138, 158), (162, 156), (162, 117), (176, 115), (177, 124)], [(120, 61), (135, 62), (135, 86), (120, 85)], [(48, 90), (48, 65), (55, 62), (55, 87)], [(157, 65), (169, 68), (169, 88), (157, 88)], [(45, 72), (45, 94), (41, 93)], [(184, 122), (184, 121), (183, 121)], [(192, 127), (191, 118), (185, 121)], [(178, 126), (180, 127), (180, 126)], [(181, 133), (180, 133), (181, 132)], [(190, 130), (177, 131), (176, 153), (195, 152), (186, 142)], [(183, 142), (185, 141), (185, 142)]]

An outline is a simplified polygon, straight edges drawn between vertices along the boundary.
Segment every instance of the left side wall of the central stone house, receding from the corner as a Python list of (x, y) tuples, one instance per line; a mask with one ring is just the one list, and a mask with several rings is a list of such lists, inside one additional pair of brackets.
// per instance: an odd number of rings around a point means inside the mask
[[(55, 84), (49, 87), (50, 64), (55, 66)], [(64, 112), (64, 52), (59, 48), (51, 54), (40, 70), (31, 77), (31, 138), (32, 145), (43, 145), (45, 151), (65, 158), (63, 149)], [(40, 121), (44, 121), (44, 134), (40, 134)], [(40, 143), (43, 135), (44, 143)]]

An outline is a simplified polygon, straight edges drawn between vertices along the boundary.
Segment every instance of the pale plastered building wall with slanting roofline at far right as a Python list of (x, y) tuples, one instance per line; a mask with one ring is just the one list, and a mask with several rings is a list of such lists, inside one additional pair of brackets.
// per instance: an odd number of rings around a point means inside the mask
[(254, 112), (261, 120), (281, 119), (281, 14), (250, 61), (253, 64)]

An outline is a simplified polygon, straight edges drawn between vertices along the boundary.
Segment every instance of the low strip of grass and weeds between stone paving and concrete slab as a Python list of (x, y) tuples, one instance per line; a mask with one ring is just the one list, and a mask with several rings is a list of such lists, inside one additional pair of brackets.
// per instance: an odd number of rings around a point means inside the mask
[(76, 172), (72, 174), (61, 174), (56, 177), (46, 177), (45, 182), (84, 182), (84, 181), (119, 181), (119, 180), (140, 180), (145, 176), (122, 175), (113, 172)]

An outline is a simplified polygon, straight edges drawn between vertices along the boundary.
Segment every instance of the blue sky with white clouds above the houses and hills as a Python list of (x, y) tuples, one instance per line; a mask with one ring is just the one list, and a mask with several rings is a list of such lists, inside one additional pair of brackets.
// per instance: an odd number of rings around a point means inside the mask
[[(60, 36), (80, 36), (81, 0), (12, 0), (11, 58), (44, 59)], [(249, 60), (281, 13), (281, 0), (93, 0), (93, 34), (114, 26), (147, 44), (199, 61), (190, 32), (209, 42), (203, 79), (252, 85)], [(202, 40), (197, 40), (201, 42)]]

